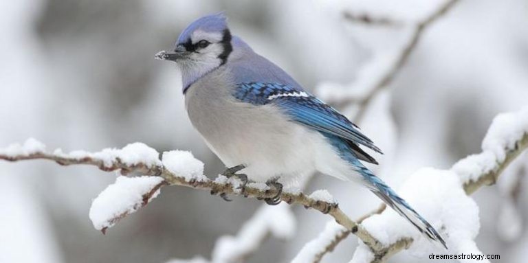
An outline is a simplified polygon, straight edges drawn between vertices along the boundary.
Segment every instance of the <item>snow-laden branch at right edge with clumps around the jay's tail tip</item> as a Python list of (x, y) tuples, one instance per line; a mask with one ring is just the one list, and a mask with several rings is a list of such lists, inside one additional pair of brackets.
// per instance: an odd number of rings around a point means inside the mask
[[(528, 107), (495, 117), (483, 139), (483, 152), (461, 159), (450, 170), (423, 168), (404, 182), (399, 193), (440, 230), (450, 251), (481, 254), (474, 242), (480, 228), (478, 207), (467, 195), (484, 185), (494, 184), (526, 148)], [(390, 209), (369, 216), (362, 226), (384, 247), (376, 250), (360, 246), (352, 262), (384, 262), (403, 249), (419, 257), (431, 252), (432, 246), (427, 242), (413, 242), (423, 237)]]

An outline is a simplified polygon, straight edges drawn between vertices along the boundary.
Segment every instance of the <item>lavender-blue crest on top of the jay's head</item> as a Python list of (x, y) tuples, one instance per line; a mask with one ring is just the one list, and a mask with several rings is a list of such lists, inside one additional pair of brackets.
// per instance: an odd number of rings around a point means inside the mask
[(223, 32), (228, 28), (227, 18), (223, 12), (202, 16), (194, 22), (190, 23), (188, 27), (181, 32), (178, 37), (178, 44), (185, 43), (190, 39), (190, 35), (195, 30), (203, 30), (205, 32)]

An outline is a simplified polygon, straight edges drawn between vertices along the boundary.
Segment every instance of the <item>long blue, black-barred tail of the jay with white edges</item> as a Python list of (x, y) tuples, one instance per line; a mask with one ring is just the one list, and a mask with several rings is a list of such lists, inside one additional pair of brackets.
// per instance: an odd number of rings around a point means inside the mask
[[(358, 161), (359, 163), (359, 161)], [(445, 241), (432, 225), (421, 217), (415, 209), (401, 197), (399, 197), (391, 187), (388, 187), (380, 178), (375, 176), (369, 169), (361, 165), (358, 172), (363, 176), (365, 185), (369, 187), (377, 197), (381, 198), (388, 206), (392, 207), (400, 216), (406, 218), (423, 235), (430, 240), (440, 242), (445, 249), (448, 249)]]

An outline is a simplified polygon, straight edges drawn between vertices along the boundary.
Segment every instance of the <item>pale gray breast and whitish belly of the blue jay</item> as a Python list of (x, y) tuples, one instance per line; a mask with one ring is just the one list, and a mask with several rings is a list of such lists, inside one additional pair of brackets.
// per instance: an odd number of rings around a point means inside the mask
[(314, 149), (307, 144), (307, 137), (314, 133), (289, 122), (273, 105), (236, 101), (230, 95), (233, 87), (228, 72), (219, 71), (199, 80), (186, 93), (192, 125), (223, 163), (248, 165), (245, 172), (252, 179), (298, 174), (300, 169), (310, 168)]

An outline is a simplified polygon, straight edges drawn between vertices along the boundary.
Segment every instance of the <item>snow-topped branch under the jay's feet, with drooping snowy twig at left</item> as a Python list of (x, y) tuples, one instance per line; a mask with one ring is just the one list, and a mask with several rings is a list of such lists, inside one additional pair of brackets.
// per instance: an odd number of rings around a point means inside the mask
[[(47, 159), (60, 165), (95, 165), (100, 170), (107, 172), (119, 171), (122, 175), (133, 173), (162, 178), (162, 181), (156, 181), (156, 183), (151, 179), (145, 180), (143, 183), (133, 181), (133, 185), (126, 185), (124, 182), (127, 181), (118, 179), (115, 185), (111, 185), (102, 192), (92, 205), (92, 209), (100, 209), (102, 210), (100, 213), (104, 215), (102, 217), (94, 216), (96, 218), (94, 226), (101, 230), (106, 229), (105, 227), (111, 227), (124, 216), (146, 205), (148, 200), (155, 196), (157, 191), (164, 185), (192, 187), (217, 194), (241, 194), (241, 190), (238, 188), (241, 185), (241, 181), (236, 178), (227, 179), (222, 175), (215, 180), (208, 179), (208, 177), (203, 175), (203, 163), (192, 157), (190, 152), (164, 152), (162, 160), (159, 160), (159, 153), (142, 143), (129, 144), (122, 149), (104, 149), (100, 152), (78, 150), (65, 153), (60, 149), (54, 152), (47, 152), (43, 144), (35, 139), (28, 139), (23, 145), (12, 144), (7, 148), (0, 148), (0, 159), (7, 161)], [(140, 184), (145, 185), (140, 186)], [(132, 194), (131, 191), (135, 191), (135, 194)], [(147, 194), (146, 199), (145, 194)], [(272, 198), (277, 194), (277, 190), (263, 187), (258, 183), (248, 184), (244, 191), (244, 196), (258, 199)], [(116, 205), (111, 209), (98, 204), (101, 200), (108, 200), (108, 198), (113, 196), (120, 198), (118, 195), (128, 196), (129, 201), (125, 205)], [(142, 196), (142, 198), (139, 198), (139, 196)], [(285, 190), (280, 195), (280, 198), (281, 201), (289, 204), (299, 204), (306, 208), (316, 209), (324, 214), (329, 214), (338, 224), (354, 233), (369, 246), (378, 249), (381, 246), (380, 242), (373, 238), (370, 233), (344, 214), (338, 207), (338, 203), (326, 191), (318, 190), (308, 196), (300, 191)], [(98, 212), (92, 211), (90, 214), (94, 213), (98, 214)]]

